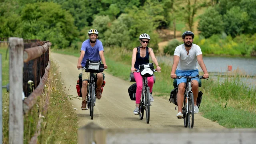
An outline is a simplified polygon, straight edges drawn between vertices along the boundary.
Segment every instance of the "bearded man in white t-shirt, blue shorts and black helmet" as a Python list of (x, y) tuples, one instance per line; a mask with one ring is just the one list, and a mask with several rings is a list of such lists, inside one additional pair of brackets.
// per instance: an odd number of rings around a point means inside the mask
[[(207, 72), (206, 66), (203, 61), (201, 48), (193, 44), (194, 33), (186, 31), (182, 34), (182, 39), (184, 44), (177, 46), (174, 51), (173, 65), (171, 77), (176, 78), (176, 76), (196, 76), (198, 74), (197, 62), (204, 72), (204, 78), (208, 78), (209, 74)], [(176, 79), (178, 85), (178, 114), (176, 117), (182, 117), (182, 103), (184, 101), (184, 92), (186, 78)], [(199, 109), (196, 106), (196, 99), (199, 92), (198, 81), (199, 78), (192, 79), (192, 92), (194, 95), (194, 112), (198, 114)]]

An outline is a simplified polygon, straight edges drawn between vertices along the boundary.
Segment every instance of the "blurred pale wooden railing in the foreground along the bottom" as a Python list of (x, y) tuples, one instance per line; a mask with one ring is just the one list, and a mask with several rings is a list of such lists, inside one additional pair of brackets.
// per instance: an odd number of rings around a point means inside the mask
[(79, 128), (78, 144), (254, 144), (256, 129)]

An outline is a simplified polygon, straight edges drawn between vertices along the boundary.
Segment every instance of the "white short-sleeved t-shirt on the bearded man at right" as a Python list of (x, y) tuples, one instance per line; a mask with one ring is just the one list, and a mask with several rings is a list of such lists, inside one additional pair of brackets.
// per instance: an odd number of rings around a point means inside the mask
[(174, 51), (174, 56), (180, 57), (177, 70), (196, 70), (198, 68), (196, 56), (202, 54), (201, 48), (196, 44), (192, 44), (188, 55), (187, 53), (188, 52), (186, 51), (184, 44), (176, 47)]

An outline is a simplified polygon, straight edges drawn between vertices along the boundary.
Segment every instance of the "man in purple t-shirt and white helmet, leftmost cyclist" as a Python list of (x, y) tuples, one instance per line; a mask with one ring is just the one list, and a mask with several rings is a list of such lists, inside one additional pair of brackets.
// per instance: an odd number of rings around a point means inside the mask
[[(104, 58), (104, 49), (102, 46), (102, 42), (100, 40), (97, 40), (99, 32), (97, 30), (90, 30), (88, 32), (89, 39), (84, 41), (81, 47), (81, 53), (80, 57), (78, 58), (77, 68), (82, 68), (86, 64), (86, 60), (102, 60), (102, 63), (104, 64), (104, 69), (106, 69), (108, 66), (106, 65), (106, 60)], [(90, 73), (85, 72), (85, 70), (82, 70), (82, 110), (86, 110), (86, 95), (87, 95), (87, 86), (89, 81)], [(103, 83), (103, 74), (97, 73), (97, 88), (96, 88), (96, 98), (101, 98), (101, 90), (100, 86)]]

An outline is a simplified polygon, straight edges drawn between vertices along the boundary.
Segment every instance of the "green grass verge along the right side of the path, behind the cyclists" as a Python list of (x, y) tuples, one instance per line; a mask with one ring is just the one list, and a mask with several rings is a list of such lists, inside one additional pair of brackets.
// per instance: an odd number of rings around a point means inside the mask
[[(72, 49), (54, 50), (62, 54), (79, 56), (79, 52)], [(132, 52), (105, 48), (104, 56), (108, 65), (108, 73), (129, 80)], [(160, 64), (161, 73), (155, 73), (156, 83), (153, 94), (155, 96), (170, 96), (173, 80), (170, 78), (171, 66)], [(220, 77), (218, 77), (220, 78)], [(240, 74), (235, 77), (226, 76), (221, 83), (218, 79), (202, 80), (200, 90), (204, 93), (200, 112), (202, 116), (218, 122), (226, 128), (256, 128), (256, 88), (249, 88), (240, 82)]]

